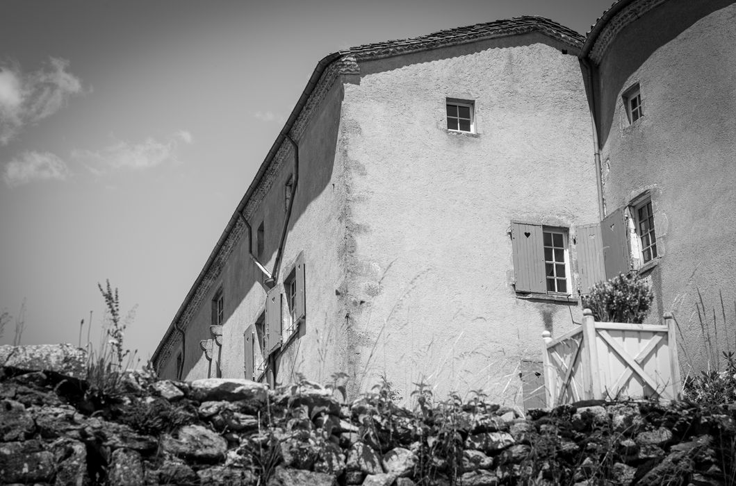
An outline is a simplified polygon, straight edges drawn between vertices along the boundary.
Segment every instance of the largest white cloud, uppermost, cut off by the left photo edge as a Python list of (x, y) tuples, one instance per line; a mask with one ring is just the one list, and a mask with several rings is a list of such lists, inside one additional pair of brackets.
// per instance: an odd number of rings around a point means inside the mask
[(69, 62), (49, 62), (24, 74), (17, 64), (0, 65), (0, 145), (7, 145), (24, 126), (37, 124), (82, 93), (82, 82), (68, 71)]

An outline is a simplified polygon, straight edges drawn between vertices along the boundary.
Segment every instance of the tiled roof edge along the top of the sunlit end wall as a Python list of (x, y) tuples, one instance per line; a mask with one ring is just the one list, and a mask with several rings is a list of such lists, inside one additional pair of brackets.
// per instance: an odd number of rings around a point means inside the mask
[(412, 51), (436, 49), (442, 46), (454, 46), (478, 40), (506, 37), (508, 35), (525, 34), (527, 32), (543, 32), (562, 40), (570, 46), (580, 49), (585, 37), (569, 27), (557, 24), (549, 18), (538, 15), (505, 18), (498, 21), (474, 24), (440, 30), (419, 37), (407, 39), (385, 40), (378, 43), (363, 44), (341, 51), (344, 56), (353, 56), (356, 60), (380, 59)]

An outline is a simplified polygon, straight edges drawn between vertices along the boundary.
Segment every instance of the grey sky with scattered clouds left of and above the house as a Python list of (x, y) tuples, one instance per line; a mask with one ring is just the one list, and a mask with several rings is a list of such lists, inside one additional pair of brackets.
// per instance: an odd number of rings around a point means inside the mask
[(109, 279), (145, 362), (325, 55), (611, 3), (0, 0), (0, 344), (99, 348)]

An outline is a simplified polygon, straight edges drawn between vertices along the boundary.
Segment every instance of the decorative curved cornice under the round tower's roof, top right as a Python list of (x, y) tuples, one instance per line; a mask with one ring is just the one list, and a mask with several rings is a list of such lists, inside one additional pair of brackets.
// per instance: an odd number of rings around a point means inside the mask
[[(621, 30), (665, 1), (667, 0), (634, 0), (629, 1), (628, 4), (624, 4), (623, 1), (613, 4), (592, 26), (588, 34), (586, 45), (592, 43), (590, 52), (587, 54), (590, 60), (595, 64), (600, 64), (609, 46)], [(614, 8), (617, 5), (621, 7), (620, 10), (615, 11)], [(612, 15), (606, 15), (609, 12), (612, 12)]]

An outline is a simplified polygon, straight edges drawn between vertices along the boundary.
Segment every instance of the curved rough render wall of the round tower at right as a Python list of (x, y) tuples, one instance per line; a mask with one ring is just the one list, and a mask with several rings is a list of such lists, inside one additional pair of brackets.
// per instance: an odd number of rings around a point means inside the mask
[[(650, 319), (675, 313), (685, 335), (680, 362), (690, 371), (705, 365), (698, 288), (711, 323), (713, 307), (723, 321), (722, 291), (731, 324), (718, 329), (720, 347), (736, 346), (736, 5), (710, 13), (632, 64), (632, 45), (657, 40), (648, 37), (657, 29), (653, 17), (629, 26), (601, 65), (602, 101), (615, 104), (601, 140), (604, 198), (612, 211), (651, 190), (662, 258), (649, 276), (656, 296)], [(629, 74), (623, 85), (607, 85), (614, 71)], [(629, 126), (621, 95), (636, 82), (644, 117)]]

